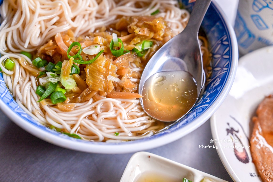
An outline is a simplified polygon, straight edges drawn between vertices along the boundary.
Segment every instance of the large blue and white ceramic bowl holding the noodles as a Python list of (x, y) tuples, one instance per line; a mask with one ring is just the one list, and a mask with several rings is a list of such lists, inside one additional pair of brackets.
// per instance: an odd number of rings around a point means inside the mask
[[(1, 2), (1, 0), (0, 0)], [(182, 0), (189, 11), (194, 3)], [(238, 46), (232, 26), (223, 11), (212, 2), (202, 23), (213, 55), (213, 72), (203, 96), (192, 110), (165, 131), (148, 138), (120, 143), (87, 142), (44, 127), (26, 114), (10, 95), (0, 75), (0, 108), (27, 132), (52, 144), (93, 153), (130, 153), (159, 147), (173, 142), (201, 126), (224, 101), (232, 86), (238, 62)]]

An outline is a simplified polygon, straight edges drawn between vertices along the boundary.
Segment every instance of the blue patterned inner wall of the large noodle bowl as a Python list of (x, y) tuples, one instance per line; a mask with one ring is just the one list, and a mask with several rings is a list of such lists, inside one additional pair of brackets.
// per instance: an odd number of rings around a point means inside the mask
[[(1, 3), (2, 0), (0, 0), (0, 4)], [(188, 3), (188, 0), (182, 0), (182, 3), (189, 11), (191, 11), (193, 3)], [(120, 143), (89, 142), (71, 138), (68, 137), (67, 135), (63, 135), (54, 130), (51, 130), (41, 125), (38, 121), (31, 118), (28, 114), (26, 114), (25, 111), (23, 111), (22, 108), (18, 106), (18, 104), (8, 91), (3, 80), (2, 74), (0, 75), (0, 99), (8, 106), (8, 108), (10, 108), (14, 112), (14, 114), (17, 114), (19, 117), (23, 118), (23, 120), (31, 123), (35, 127), (38, 127), (39, 129), (48, 132), (49, 135), (55, 135), (61, 138), (65, 138), (66, 140), (88, 143), (89, 145), (124, 145), (128, 143), (149, 141), (159, 138), (161, 136), (168, 135), (171, 132), (181, 129), (187, 124), (194, 122), (213, 103), (215, 103), (216, 99), (219, 97), (219, 94), (221, 93), (227, 82), (227, 79), (230, 74), (230, 67), (232, 66), (232, 61), (237, 61), (232, 60), (233, 47), (231, 45), (229, 29), (227, 25), (224, 23), (222, 15), (219, 13), (213, 2), (206, 13), (204, 21), (202, 23), (202, 28), (209, 39), (210, 52), (212, 53), (213, 56), (212, 76), (208, 80), (208, 84), (206, 86), (204, 94), (201, 97), (201, 99), (198, 100), (198, 103), (183, 119), (177, 121), (175, 124), (170, 126), (170, 128), (162, 132), (159, 132), (149, 138)]]

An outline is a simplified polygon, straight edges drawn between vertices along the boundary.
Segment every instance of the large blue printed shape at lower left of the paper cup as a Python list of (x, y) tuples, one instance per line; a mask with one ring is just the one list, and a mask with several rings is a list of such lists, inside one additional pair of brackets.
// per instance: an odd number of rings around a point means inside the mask
[(246, 49), (254, 42), (255, 35), (248, 29), (244, 19), (239, 13), (237, 13), (234, 30), (238, 45), (241, 47)]

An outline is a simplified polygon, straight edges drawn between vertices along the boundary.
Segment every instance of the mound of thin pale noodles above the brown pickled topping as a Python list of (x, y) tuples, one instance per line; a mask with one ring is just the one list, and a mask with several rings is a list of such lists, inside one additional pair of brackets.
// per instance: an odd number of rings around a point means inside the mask
[[(137, 7), (141, 2), (150, 4)], [(8, 8), (14, 10), (9, 11)], [(130, 0), (117, 4), (113, 0), (78, 3), (72, 0), (4, 1), (0, 8), (0, 37), (7, 40), (8, 49), (12, 52), (31, 52), (59, 32), (72, 29), (75, 35), (87, 34), (90, 30), (108, 26), (117, 16), (150, 15), (157, 9), (160, 13), (155, 16), (164, 17), (174, 31), (178, 33), (184, 29), (182, 24), (188, 21), (189, 13), (181, 10), (175, 0)], [(4, 41), (1, 42), (0, 53), (5, 55), (6, 45)]]

